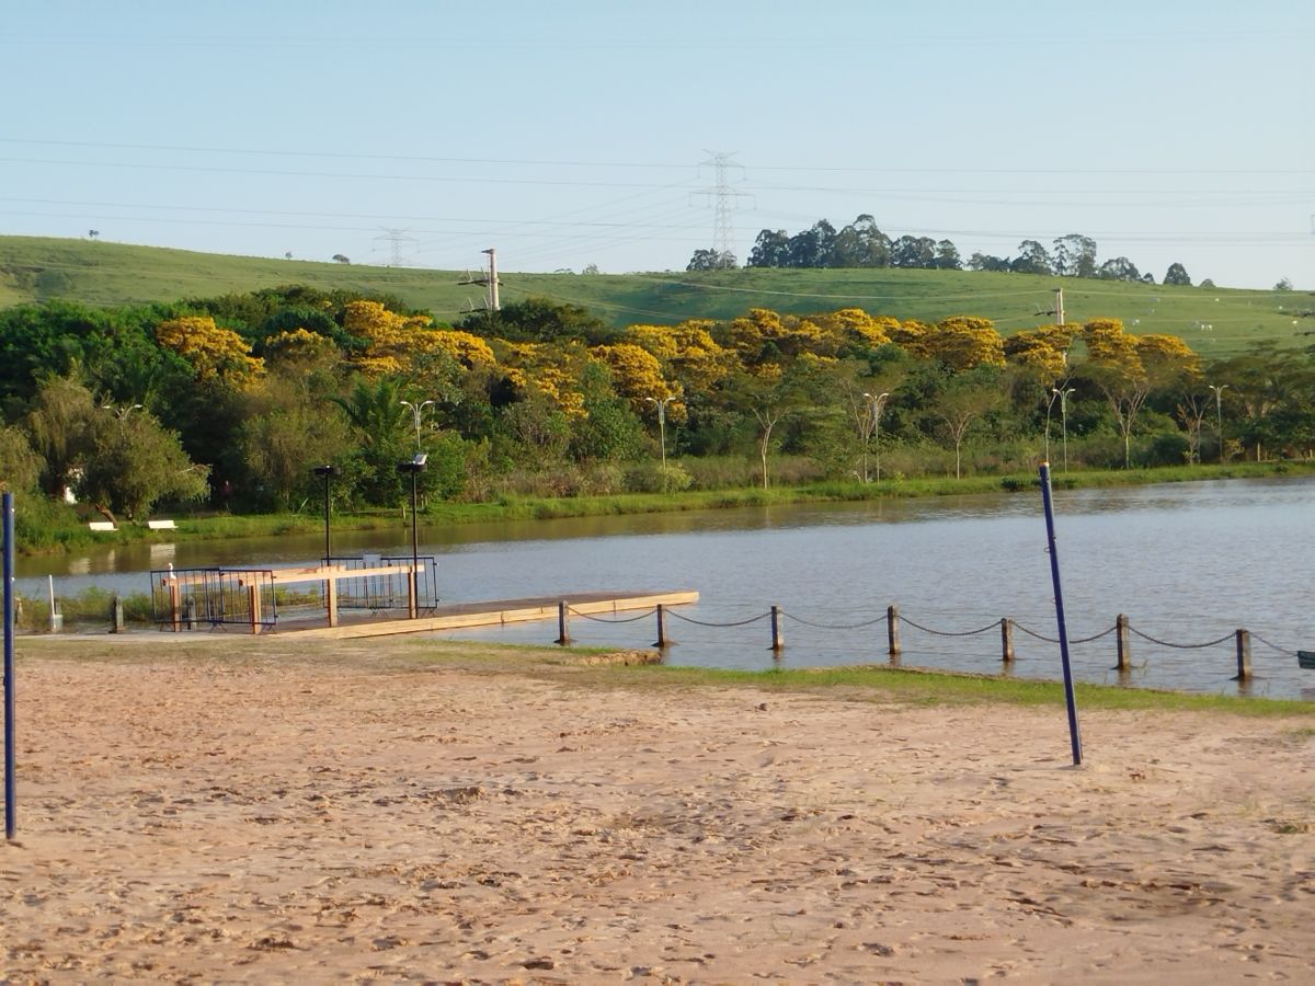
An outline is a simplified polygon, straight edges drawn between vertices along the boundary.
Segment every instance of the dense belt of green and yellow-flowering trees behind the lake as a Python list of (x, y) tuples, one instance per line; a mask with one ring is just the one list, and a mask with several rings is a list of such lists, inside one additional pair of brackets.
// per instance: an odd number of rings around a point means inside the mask
[(458, 325), (284, 287), (0, 312), (0, 485), (142, 519), (341, 506), (1310, 458), (1315, 354), (1205, 364), (1116, 319), (1002, 337), (860, 309), (611, 329), (530, 298)]

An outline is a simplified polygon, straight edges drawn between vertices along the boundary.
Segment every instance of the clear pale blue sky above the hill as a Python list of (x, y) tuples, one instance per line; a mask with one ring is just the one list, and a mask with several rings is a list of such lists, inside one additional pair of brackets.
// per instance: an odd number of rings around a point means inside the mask
[(11, 4), (0, 233), (621, 273), (871, 214), (1315, 288), (1312, 50), (1308, 0)]

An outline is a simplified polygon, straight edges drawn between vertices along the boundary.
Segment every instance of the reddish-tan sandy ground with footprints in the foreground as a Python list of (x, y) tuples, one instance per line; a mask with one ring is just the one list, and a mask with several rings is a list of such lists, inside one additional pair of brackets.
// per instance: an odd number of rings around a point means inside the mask
[(20, 640), (4, 981), (1310, 981), (1312, 719), (529, 664)]

